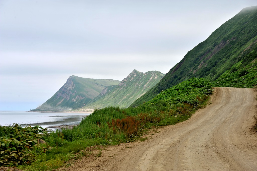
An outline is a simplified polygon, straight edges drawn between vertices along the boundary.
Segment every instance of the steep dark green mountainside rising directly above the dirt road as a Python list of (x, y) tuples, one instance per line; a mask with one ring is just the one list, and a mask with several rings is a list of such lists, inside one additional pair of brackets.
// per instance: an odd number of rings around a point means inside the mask
[(247, 87), (256, 85), (257, 6), (241, 10), (222, 24), (132, 106), (149, 101), (192, 77), (205, 78), (214, 86)]

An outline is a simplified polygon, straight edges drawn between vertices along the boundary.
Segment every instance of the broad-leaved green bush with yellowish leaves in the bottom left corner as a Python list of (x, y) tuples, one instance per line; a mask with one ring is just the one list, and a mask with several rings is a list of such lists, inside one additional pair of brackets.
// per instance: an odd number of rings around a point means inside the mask
[(37, 152), (46, 150), (43, 146), (36, 146), (37, 139), (46, 135), (42, 129), (40, 126), (22, 128), (18, 124), (1, 127), (0, 164), (8, 166), (31, 163), (35, 147)]

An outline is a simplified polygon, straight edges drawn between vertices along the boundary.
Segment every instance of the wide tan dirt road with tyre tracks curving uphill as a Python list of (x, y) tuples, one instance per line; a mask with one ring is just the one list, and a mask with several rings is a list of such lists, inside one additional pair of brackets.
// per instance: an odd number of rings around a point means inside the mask
[(253, 89), (216, 88), (212, 104), (189, 120), (63, 170), (257, 170), (255, 95)]

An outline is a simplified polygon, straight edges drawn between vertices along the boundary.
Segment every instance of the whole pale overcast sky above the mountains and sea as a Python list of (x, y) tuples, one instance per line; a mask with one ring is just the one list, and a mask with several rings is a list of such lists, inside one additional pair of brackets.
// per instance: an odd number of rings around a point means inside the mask
[(0, 0), (0, 110), (36, 109), (71, 75), (167, 73), (256, 0)]

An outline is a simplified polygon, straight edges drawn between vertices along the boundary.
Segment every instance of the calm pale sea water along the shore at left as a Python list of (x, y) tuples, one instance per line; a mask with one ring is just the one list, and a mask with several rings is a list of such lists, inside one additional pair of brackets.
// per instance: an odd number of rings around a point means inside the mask
[[(75, 125), (90, 113), (38, 113), (25, 111), (0, 111), (0, 125), (8, 126), (13, 123), (22, 127), (40, 125), (43, 128), (58, 125)], [(56, 129), (53, 129), (56, 130)]]

